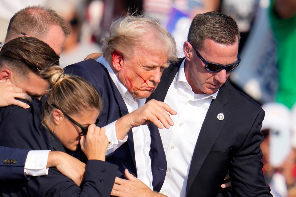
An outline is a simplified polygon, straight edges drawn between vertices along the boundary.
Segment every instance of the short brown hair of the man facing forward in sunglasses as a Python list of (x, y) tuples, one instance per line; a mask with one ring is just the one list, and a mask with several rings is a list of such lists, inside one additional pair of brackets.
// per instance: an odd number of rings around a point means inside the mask
[(205, 39), (214, 39), (221, 44), (234, 44), (240, 40), (240, 32), (235, 20), (220, 12), (196, 14), (193, 18), (187, 41), (197, 50), (204, 45)]

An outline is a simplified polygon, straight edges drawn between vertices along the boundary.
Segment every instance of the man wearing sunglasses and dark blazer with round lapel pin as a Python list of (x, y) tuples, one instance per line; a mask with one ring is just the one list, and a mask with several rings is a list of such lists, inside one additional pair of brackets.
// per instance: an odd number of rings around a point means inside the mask
[[(183, 45), (185, 57), (163, 72), (148, 98), (163, 101), (177, 112), (171, 116), (175, 125), (159, 129), (167, 158), (160, 190), (164, 195), (229, 196), (221, 188), (229, 171), (233, 196), (272, 196), (263, 177), (259, 147), (265, 113), (227, 81), (241, 61), (239, 39), (231, 17), (197, 14)], [(143, 193), (134, 177), (128, 179), (135, 187), (127, 190), (129, 182), (117, 180), (114, 195)], [(159, 194), (151, 192), (151, 196)]]

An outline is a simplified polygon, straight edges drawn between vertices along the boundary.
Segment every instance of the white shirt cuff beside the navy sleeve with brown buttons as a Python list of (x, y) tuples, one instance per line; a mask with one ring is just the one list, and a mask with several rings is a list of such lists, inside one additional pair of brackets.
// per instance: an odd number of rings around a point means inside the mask
[(46, 165), (49, 152), (50, 150), (30, 150), (25, 163), (25, 175), (47, 175), (48, 168), (46, 168)]

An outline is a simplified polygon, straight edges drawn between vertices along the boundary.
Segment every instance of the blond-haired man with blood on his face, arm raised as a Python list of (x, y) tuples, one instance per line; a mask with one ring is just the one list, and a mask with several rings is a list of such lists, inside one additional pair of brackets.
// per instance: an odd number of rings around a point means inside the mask
[(176, 113), (162, 102), (145, 100), (176, 60), (175, 40), (156, 20), (127, 15), (113, 21), (102, 42), (103, 56), (97, 61), (72, 64), (65, 72), (88, 80), (99, 92), (104, 107), (97, 126), (106, 129), (106, 161), (119, 166), (117, 176), (124, 178), (128, 169), (159, 191), (167, 163), (156, 126), (169, 128), (174, 123), (168, 113)]

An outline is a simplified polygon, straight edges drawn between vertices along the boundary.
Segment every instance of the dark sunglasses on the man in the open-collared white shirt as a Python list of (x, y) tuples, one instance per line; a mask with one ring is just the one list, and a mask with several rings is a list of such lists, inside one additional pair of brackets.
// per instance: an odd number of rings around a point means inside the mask
[(201, 56), (199, 54), (199, 52), (195, 49), (195, 47), (193, 47), (193, 48), (194, 48), (197, 56), (199, 57), (199, 59), (204, 63), (204, 65), (205, 65), (204, 68), (210, 72), (220, 72), (223, 69), (225, 69), (226, 72), (230, 72), (230, 71), (233, 71), (238, 66), (238, 64), (241, 62), (241, 57), (239, 54), (237, 54), (237, 61), (233, 64), (223, 66), (221, 64), (211, 63), (211, 62), (204, 60), (203, 56)]

